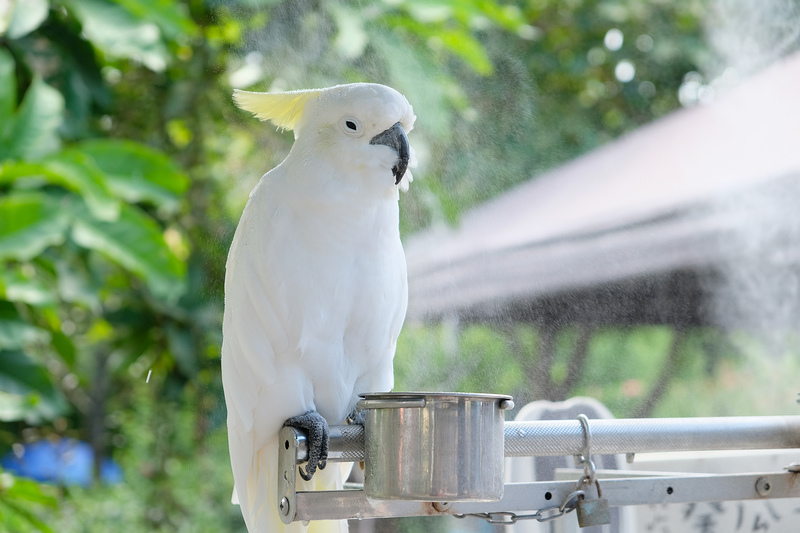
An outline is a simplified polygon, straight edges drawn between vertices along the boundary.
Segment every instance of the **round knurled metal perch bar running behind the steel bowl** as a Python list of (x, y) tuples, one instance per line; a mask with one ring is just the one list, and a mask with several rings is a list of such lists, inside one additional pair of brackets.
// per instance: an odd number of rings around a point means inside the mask
[[(800, 416), (628, 418), (589, 421), (592, 453), (645, 453), (800, 448)], [(364, 460), (364, 429), (332, 426), (328, 460)], [(307, 459), (300, 435), (297, 462)], [(577, 455), (584, 436), (577, 420), (505, 423), (506, 457)]]

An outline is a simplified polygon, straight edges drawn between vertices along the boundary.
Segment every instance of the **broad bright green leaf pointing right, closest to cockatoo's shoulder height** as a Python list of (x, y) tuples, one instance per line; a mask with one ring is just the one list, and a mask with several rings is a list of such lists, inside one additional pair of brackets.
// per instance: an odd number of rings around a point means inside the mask
[(143, 144), (104, 139), (85, 141), (77, 149), (94, 160), (109, 187), (128, 202), (174, 211), (189, 186), (189, 178), (169, 157)]

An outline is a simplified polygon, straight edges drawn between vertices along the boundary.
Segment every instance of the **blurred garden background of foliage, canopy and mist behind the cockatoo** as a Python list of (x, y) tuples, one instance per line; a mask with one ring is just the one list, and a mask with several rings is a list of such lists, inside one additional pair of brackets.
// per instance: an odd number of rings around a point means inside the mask
[(795, 414), (799, 31), (796, 0), (0, 0), (0, 531), (245, 531), (224, 265), (292, 134), (233, 88), (414, 106), (396, 390)]

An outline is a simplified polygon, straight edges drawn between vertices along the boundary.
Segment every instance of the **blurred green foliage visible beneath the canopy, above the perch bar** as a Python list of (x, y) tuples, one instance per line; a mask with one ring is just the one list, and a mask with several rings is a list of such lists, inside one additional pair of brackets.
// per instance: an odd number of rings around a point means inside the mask
[[(556, 384), (564, 381), (576, 336), (567, 329), (556, 342), (550, 367)], [(792, 377), (800, 361), (795, 350), (768, 356), (765, 342), (750, 334), (692, 330), (683, 339), (679, 364), (664, 376), (674, 338), (675, 332), (665, 326), (595, 331), (580, 379), (564, 397), (590, 396), (615, 416), (630, 417), (659, 380), (668, 379), (651, 416), (774, 415), (791, 405), (796, 395)], [(533, 400), (558, 399), (537, 389), (538, 380), (530, 374), (543, 356), (541, 334), (530, 325), (459, 329), (411, 324), (398, 343), (395, 390), (510, 394), (517, 408)]]

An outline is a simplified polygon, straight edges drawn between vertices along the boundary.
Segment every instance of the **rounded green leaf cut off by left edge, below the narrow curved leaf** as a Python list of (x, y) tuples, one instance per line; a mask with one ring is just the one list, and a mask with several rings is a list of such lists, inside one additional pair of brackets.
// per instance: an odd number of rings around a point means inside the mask
[(58, 202), (44, 193), (0, 198), (0, 259), (28, 261), (45, 248), (64, 242), (66, 217)]

